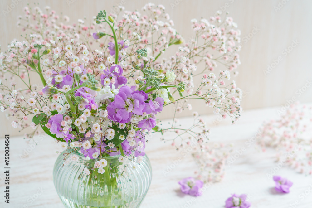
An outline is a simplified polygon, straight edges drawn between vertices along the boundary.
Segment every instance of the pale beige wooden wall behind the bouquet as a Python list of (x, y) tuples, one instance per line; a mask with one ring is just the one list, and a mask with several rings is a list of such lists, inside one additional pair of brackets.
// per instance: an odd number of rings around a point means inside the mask
[[(18, 2), (6, 16), (7, 10), (13, 2)], [(243, 47), (240, 52), (241, 65), (239, 76), (236, 77), (237, 85), (244, 90), (246, 96), (242, 101), (244, 109), (281, 106), (292, 97), (301, 102), (312, 101), (312, 87), (306, 88), (301, 94), (299, 89), (306, 85), (312, 78), (312, 1), (310, 0), (159, 0), (159, 1), (130, 1), (130, 0), (1, 0), (0, 1), (0, 44), (6, 49), (7, 43), (13, 38), (18, 38), (21, 28), (16, 27), (17, 16), (22, 14), (23, 7), (40, 3), (40, 7), (50, 6), (57, 13), (63, 12), (76, 22), (82, 17), (91, 18), (100, 10), (108, 10), (120, 3), (126, 10), (141, 10), (145, 3), (153, 2), (163, 4), (166, 11), (175, 23), (175, 28), (185, 39), (191, 37), (190, 20), (213, 16), (217, 10), (230, 12), (230, 16), (237, 22), (241, 29)], [(70, 3), (70, 4), (69, 4)], [(253, 28), (259, 31), (252, 34)], [(246, 37), (251, 38), (246, 38)], [(246, 37), (245, 37), (246, 36)], [(299, 42), (289, 53), (293, 41)], [(271, 70), (264, 73), (268, 65), (281, 56), (281, 61)], [(273, 64), (274, 66), (274, 64)], [(303, 88), (304, 90), (305, 88)], [(193, 105), (194, 110), (200, 113), (210, 113), (204, 105)], [(162, 117), (170, 117), (167, 111)], [(186, 114), (182, 114), (186, 115)], [(1, 133), (18, 135), (7, 122), (4, 114), (0, 114)]]

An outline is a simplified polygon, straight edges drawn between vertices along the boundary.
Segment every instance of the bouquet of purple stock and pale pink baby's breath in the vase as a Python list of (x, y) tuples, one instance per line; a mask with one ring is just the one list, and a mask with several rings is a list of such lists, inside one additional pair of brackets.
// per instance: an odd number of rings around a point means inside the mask
[[(49, 7), (26, 7), (18, 25), (27, 33), (0, 51), (1, 111), (13, 128), (32, 128), (28, 138), (42, 128), (70, 152), (95, 159), (101, 174), (109, 155), (135, 167), (155, 132), (177, 133), (168, 139), (174, 146), (196, 140), (205, 149), (209, 134), (196, 112), (191, 127), (180, 128), (175, 116), (171, 128), (160, 127), (156, 116), (168, 105), (181, 112), (192, 109), (188, 100), (202, 100), (233, 122), (241, 112), (241, 90), (230, 80), (240, 64), (231, 17), (193, 19), (194, 37), (184, 42), (162, 5), (147, 4), (144, 14), (118, 10), (69, 25)], [(215, 74), (219, 63), (227, 69)], [(64, 157), (64, 164), (78, 160)]]

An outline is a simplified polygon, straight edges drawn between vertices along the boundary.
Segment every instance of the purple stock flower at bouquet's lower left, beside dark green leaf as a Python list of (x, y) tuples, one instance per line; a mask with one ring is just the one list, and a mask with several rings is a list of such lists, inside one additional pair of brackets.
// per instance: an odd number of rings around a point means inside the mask
[(55, 136), (57, 138), (64, 138), (64, 140), (66, 142), (68, 142), (70, 139), (73, 139), (73, 135), (70, 134), (69, 132), (71, 132), (72, 128), (70, 127), (67, 131), (67, 133), (63, 132), (63, 127), (61, 126), (61, 122), (64, 119), (62, 114), (55, 114), (54, 116), (52, 116), (48, 123), (51, 124), (50, 127), (50, 132), (55, 134)]

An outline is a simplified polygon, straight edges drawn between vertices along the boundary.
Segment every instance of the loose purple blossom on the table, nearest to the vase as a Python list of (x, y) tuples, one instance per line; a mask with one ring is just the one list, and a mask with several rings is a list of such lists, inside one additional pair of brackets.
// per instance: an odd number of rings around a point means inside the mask
[(189, 194), (191, 196), (201, 196), (202, 191), (201, 188), (203, 186), (203, 182), (201, 180), (195, 180), (192, 177), (184, 178), (178, 182), (181, 185), (181, 191), (184, 194)]

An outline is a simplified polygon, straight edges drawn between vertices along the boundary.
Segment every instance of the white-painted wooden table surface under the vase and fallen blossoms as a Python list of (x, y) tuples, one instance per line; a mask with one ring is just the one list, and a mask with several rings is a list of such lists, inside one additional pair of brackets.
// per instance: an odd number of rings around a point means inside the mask
[[(212, 123), (215, 116), (204, 116), (211, 129), (211, 140), (223, 143), (234, 143), (233, 150), (245, 147), (246, 140), (256, 134), (261, 123), (266, 119), (276, 118), (277, 109), (268, 108), (249, 110), (242, 113), (240, 121), (230, 125), (222, 121), (218, 125)], [(180, 121), (188, 122), (188, 118)], [(4, 121), (1, 121), (1, 123)], [(4, 157), (4, 134), (1, 132), (0, 157)], [(289, 194), (275, 194), (274, 182), (266, 174), (275, 167), (275, 153), (268, 150), (263, 153), (253, 143), (231, 165), (226, 166), (224, 179), (212, 184), (197, 198), (183, 195), (178, 181), (194, 176), (197, 165), (191, 155), (181, 156), (169, 143), (160, 142), (154, 136), (147, 144), (146, 152), (153, 167), (153, 179), (141, 208), (188, 208), (188, 207), (224, 207), (225, 200), (232, 193), (249, 194), (252, 206), (257, 208), (310, 208), (312, 207), (312, 176), (297, 173), (289, 167), (282, 167), (277, 174), (293, 181)], [(63, 208), (52, 181), (52, 170), (59, 147), (48, 136), (36, 138), (38, 145), (32, 149), (22, 137), (10, 138), (10, 204), (4, 203), (4, 161), (0, 165), (0, 207), (1, 208)], [(28, 156), (21, 157), (24, 152)], [(164, 176), (173, 160), (182, 157), (171, 172)], [(310, 190), (312, 190), (310, 188)], [(309, 193), (302, 198), (302, 192)], [(310, 193), (311, 192), (311, 193)], [(298, 205), (290, 204), (299, 201)]]

